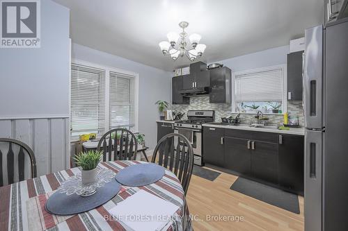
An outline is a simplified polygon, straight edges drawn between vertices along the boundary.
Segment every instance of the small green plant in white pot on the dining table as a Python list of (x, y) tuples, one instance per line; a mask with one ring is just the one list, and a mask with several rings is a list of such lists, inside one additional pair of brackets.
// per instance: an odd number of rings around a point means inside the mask
[(75, 155), (77, 166), (81, 167), (82, 184), (90, 184), (97, 180), (97, 165), (102, 158), (102, 151), (87, 151)]

